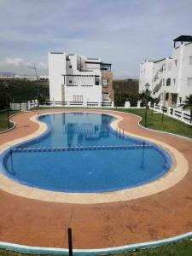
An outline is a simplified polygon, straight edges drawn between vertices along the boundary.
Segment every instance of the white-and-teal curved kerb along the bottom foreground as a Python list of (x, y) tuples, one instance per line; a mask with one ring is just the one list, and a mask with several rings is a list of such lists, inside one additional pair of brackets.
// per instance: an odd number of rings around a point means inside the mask
[[(179, 236), (172, 236), (170, 238), (156, 240), (156, 241), (144, 241), (140, 243), (120, 246), (120, 247), (108, 247), (99, 249), (73, 249), (73, 255), (76, 256), (93, 256), (93, 255), (110, 255), (116, 253), (128, 253), (136, 250), (150, 249), (160, 246), (170, 245), (172, 243), (190, 239), (192, 232), (184, 233)], [(30, 254), (51, 254), (51, 255), (68, 255), (67, 248), (59, 247), (32, 247), (26, 245), (15, 244), (11, 242), (0, 241), (0, 248), (16, 253), (30, 253)]]

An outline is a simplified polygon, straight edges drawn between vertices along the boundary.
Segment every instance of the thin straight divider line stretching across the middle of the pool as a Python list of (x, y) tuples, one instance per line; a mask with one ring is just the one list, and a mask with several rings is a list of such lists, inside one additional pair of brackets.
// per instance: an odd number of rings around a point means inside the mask
[(113, 145), (113, 146), (88, 146), (88, 147), (59, 147), (59, 148), (13, 148), (14, 152), (55, 152), (55, 151), (82, 151), (82, 150), (123, 150), (152, 148), (150, 144), (143, 145)]

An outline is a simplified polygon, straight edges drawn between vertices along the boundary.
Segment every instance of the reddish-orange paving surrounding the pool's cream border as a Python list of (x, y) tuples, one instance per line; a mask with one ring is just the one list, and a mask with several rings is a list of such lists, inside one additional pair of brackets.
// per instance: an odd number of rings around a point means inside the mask
[[(17, 126), (15, 130), (0, 135), (0, 144), (36, 131), (38, 125), (29, 120), (33, 114), (22, 113), (13, 117)], [(99, 248), (154, 241), (192, 230), (191, 141), (144, 130), (137, 125), (136, 116), (118, 115), (124, 118), (119, 126), (126, 131), (158, 139), (181, 151), (189, 161), (186, 177), (171, 189), (156, 195), (95, 205), (35, 201), (0, 190), (0, 241), (67, 247), (67, 228), (71, 227), (73, 247)]]

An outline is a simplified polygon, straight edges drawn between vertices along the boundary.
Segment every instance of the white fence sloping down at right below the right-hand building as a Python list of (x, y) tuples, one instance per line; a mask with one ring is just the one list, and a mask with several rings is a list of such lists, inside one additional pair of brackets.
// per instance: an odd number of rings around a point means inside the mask
[(171, 107), (166, 108), (163, 106), (156, 105), (155, 103), (154, 103), (154, 108), (152, 108), (151, 104), (150, 104), (150, 108), (158, 113), (164, 113), (167, 116), (172, 117), (173, 119), (180, 120), (185, 124), (192, 125), (191, 116), (189, 113), (186, 113), (185, 111), (178, 110), (177, 108), (171, 108)]

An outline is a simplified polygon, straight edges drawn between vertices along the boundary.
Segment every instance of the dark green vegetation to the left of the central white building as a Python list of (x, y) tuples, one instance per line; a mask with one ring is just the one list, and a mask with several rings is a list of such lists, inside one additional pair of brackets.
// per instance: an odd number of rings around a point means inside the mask
[(38, 95), (44, 99), (49, 97), (48, 79), (0, 79), (0, 109), (7, 108), (7, 97), (9, 102), (27, 102), (38, 98)]

